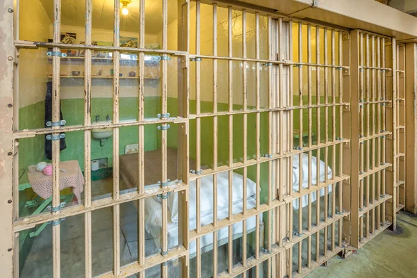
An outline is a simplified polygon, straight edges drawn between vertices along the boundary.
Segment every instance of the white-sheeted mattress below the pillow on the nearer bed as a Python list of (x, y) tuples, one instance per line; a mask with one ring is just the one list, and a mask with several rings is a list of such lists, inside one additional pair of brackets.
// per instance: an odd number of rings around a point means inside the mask
[[(247, 199), (247, 209), (254, 208), (256, 206), (256, 200), (252, 197)], [(241, 213), (243, 211), (243, 202), (238, 202), (233, 206), (234, 213)], [(227, 218), (229, 215), (229, 208), (224, 208), (218, 211), (218, 220), (222, 220)], [(260, 223), (262, 220), (262, 213), (259, 215)], [(202, 226), (206, 224), (211, 224), (213, 222), (213, 212), (211, 214), (206, 214), (202, 216)], [(195, 229), (195, 219), (190, 220), (190, 230)], [(256, 226), (256, 216), (252, 216), (248, 218), (246, 221), (246, 229), (249, 231), (250, 229), (254, 229)], [(161, 227), (162, 227), (162, 204), (157, 202), (153, 198), (145, 199), (145, 229), (149, 234), (152, 235), (155, 241), (156, 249), (161, 248)], [(174, 248), (178, 245), (178, 222), (172, 222), (170, 218), (168, 218), (167, 223), (167, 230), (168, 230), (168, 248)], [(235, 223), (233, 225), (233, 234), (242, 234), (243, 232), (243, 224), (242, 222)], [(229, 228), (225, 227), (218, 231), (218, 240), (224, 240), (229, 238)], [(202, 236), (200, 239), (200, 246), (206, 247), (213, 243), (213, 234), (206, 234)], [(190, 254), (194, 254), (196, 252), (195, 248), (195, 241), (190, 243)]]

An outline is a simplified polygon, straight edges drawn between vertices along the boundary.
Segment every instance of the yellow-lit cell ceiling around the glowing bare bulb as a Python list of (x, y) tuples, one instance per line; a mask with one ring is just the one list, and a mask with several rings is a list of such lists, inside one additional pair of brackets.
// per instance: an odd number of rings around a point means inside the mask
[[(39, 0), (53, 19), (54, 0)], [(129, 15), (120, 13), (120, 31), (138, 32), (139, 1), (132, 0), (127, 6)], [(113, 30), (113, 0), (92, 0), (92, 28)], [(61, 0), (61, 24), (85, 25), (85, 0)], [(168, 0), (168, 24), (177, 18), (177, 0)], [(145, 1), (145, 33), (162, 31), (162, 0)]]

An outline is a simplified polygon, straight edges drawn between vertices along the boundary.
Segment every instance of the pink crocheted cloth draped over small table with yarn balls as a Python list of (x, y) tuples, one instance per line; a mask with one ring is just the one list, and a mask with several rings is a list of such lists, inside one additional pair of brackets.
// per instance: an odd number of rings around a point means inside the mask
[[(59, 164), (60, 169), (66, 172), (59, 172), (59, 190), (72, 187), (76, 200), (81, 204), (81, 193), (84, 188), (84, 177), (78, 161), (63, 161)], [(43, 172), (36, 172), (35, 167), (29, 166), (28, 181), (31, 183), (33, 191), (44, 199), (52, 195), (52, 176), (47, 176)]]

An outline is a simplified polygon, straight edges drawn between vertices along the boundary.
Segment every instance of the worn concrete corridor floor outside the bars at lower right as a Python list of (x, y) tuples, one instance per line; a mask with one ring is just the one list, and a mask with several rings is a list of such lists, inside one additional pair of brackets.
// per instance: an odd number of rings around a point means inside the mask
[(397, 219), (397, 231), (384, 231), (347, 259), (336, 256), (307, 277), (417, 277), (417, 217), (400, 213)]

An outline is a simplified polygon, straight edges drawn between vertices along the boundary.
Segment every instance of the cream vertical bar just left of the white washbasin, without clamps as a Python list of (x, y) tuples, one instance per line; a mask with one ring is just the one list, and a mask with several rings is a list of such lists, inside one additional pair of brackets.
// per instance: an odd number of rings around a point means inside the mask
[[(91, 44), (92, 1), (85, 1), (85, 44)], [(91, 49), (84, 54), (84, 125), (91, 124)], [(91, 206), (91, 132), (84, 131), (84, 206)], [(91, 211), (84, 214), (85, 277), (92, 277)]]

